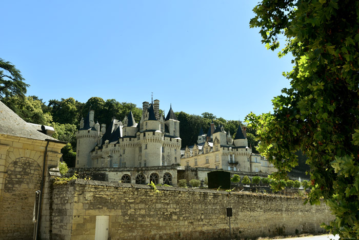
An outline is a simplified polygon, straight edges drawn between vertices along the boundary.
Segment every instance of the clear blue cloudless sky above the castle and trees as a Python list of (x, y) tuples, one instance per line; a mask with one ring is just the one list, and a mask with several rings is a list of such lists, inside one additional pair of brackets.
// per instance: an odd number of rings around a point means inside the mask
[(243, 120), (272, 110), (292, 68), (249, 28), (257, 2), (3, 1), (0, 58), (47, 102), (153, 92), (166, 112)]

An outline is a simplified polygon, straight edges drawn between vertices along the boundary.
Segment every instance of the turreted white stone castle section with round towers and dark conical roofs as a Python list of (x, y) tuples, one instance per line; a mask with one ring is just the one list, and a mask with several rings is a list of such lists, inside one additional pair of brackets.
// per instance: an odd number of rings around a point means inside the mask
[(94, 111), (76, 132), (78, 167), (153, 167), (179, 163), (179, 121), (172, 106), (167, 117), (159, 113), (159, 100), (143, 102), (141, 120), (132, 112), (123, 121), (113, 119), (106, 127), (94, 122)]

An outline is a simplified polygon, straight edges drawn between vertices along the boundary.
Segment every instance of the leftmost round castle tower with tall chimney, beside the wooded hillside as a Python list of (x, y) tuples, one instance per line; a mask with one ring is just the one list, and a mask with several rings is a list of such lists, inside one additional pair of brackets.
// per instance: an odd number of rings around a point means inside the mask
[[(94, 113), (94, 110), (90, 110), (87, 117), (81, 120), (81, 127), (76, 132), (76, 168), (92, 167), (91, 151), (99, 137), (99, 125), (95, 126), (93, 121)], [(98, 128), (96, 129), (95, 127)]]

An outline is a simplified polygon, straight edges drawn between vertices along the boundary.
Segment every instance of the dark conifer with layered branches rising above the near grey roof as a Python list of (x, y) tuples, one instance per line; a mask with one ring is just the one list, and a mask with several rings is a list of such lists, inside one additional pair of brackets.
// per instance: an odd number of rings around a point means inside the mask
[(4, 97), (18, 96), (24, 98), (26, 84), (21, 72), (10, 62), (0, 58), (0, 100)]

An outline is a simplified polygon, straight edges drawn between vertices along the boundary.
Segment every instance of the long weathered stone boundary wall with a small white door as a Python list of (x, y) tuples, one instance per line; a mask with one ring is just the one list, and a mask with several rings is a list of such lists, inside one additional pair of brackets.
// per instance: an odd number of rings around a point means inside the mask
[(54, 185), (53, 239), (94, 239), (96, 216), (109, 216), (109, 239), (228, 239), (318, 233), (333, 216), (301, 198), (76, 179)]

